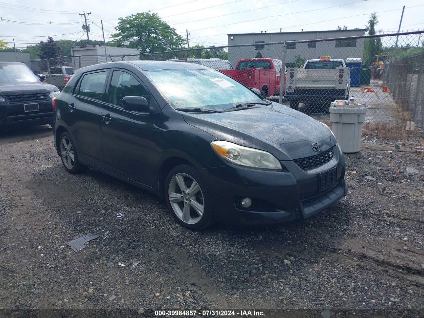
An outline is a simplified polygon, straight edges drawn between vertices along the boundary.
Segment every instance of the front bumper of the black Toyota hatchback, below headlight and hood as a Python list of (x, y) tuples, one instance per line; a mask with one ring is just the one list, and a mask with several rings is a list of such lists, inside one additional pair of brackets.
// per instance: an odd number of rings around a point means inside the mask
[[(338, 160), (337, 160), (338, 159)], [(213, 213), (217, 221), (241, 224), (274, 224), (312, 217), (347, 194), (343, 155), (323, 166), (303, 171), (285, 162), (290, 172), (249, 169), (234, 165), (203, 169), (211, 188)], [(318, 174), (337, 166), (337, 182), (318, 190)], [(252, 205), (243, 208), (242, 198)]]

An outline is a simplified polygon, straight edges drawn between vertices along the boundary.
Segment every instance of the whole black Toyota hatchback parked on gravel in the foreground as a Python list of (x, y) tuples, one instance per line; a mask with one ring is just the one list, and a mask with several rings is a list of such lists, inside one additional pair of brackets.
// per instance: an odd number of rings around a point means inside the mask
[(81, 68), (54, 108), (66, 170), (88, 166), (152, 191), (190, 229), (308, 218), (347, 192), (344, 156), (326, 125), (208, 67)]

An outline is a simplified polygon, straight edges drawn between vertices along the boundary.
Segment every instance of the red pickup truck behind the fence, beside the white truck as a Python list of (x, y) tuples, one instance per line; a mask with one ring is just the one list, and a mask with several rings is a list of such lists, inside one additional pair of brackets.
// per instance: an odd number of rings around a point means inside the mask
[[(235, 70), (220, 72), (239, 81), (243, 85), (260, 90), (262, 96), (279, 95), (281, 84), (281, 60), (272, 58), (249, 58), (237, 62)], [(286, 73), (284, 73), (286, 86)]]

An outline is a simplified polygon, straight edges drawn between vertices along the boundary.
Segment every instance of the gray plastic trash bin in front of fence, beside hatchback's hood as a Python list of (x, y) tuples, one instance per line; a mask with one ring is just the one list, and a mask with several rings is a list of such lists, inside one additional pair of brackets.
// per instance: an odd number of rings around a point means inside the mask
[(364, 105), (330, 107), (331, 131), (344, 153), (361, 150), (362, 126), (366, 112)]

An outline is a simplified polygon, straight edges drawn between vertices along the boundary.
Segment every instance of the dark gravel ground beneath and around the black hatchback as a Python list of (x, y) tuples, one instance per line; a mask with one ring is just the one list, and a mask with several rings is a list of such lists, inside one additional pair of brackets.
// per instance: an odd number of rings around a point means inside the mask
[[(48, 126), (3, 133), (0, 308), (422, 316), (424, 155), (364, 147), (346, 155), (348, 196), (315, 218), (192, 232), (143, 190), (94, 170), (67, 173)], [(77, 253), (65, 244), (87, 233), (101, 237)]]

